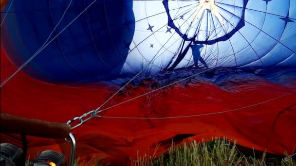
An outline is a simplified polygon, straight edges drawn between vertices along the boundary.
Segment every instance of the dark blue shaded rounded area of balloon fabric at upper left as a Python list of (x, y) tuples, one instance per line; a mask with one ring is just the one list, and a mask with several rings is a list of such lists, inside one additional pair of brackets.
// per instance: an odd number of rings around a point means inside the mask
[(14, 12), (1, 27), (1, 45), (20, 66), (43, 45), (56, 25), (48, 41), (83, 13), (25, 67), (25, 72), (51, 82), (116, 78), (129, 51), (124, 44), (131, 43), (134, 33), (132, 1), (96, 0), (83, 12), (92, 2), (15, 0), (10, 9)]

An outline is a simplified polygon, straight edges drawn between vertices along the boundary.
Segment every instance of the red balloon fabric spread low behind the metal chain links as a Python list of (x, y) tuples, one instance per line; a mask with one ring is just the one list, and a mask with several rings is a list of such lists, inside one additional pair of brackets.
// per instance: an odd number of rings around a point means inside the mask
[[(16, 69), (1, 48), (1, 83)], [(276, 154), (294, 152), (295, 79), (289, 86), (253, 79), (228, 81), (223, 87), (197, 81), (177, 83), (101, 112), (99, 115), (103, 117), (93, 117), (73, 130), (76, 157), (81, 160), (104, 157), (114, 165), (128, 165), (137, 155), (153, 154), (157, 145), (160, 155), (168, 149), (172, 138), (182, 143), (183, 138), (186, 141), (214, 137), (235, 139), (241, 146)], [(109, 84), (71, 87), (44, 83), (19, 72), (1, 87), (1, 113), (66, 123), (96, 109), (118, 89)], [(145, 83), (130, 85), (103, 108), (154, 89)], [(1, 133), (1, 142), (21, 146), (15, 134)], [(70, 154), (70, 144), (63, 140), (28, 137), (28, 147), (31, 158), (46, 149), (61, 151), (67, 157)]]

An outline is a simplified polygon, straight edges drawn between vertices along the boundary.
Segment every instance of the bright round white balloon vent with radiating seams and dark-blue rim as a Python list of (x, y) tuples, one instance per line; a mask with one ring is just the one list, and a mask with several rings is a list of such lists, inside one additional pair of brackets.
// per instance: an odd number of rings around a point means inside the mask
[[(226, 41), (244, 27), (245, 9), (248, 0), (185, 0), (178, 3), (181, 11), (176, 13), (176, 2), (164, 0), (168, 26), (184, 40), (198, 44), (213, 45)], [(226, 9), (225, 9), (226, 8)], [(234, 10), (227, 10), (235, 8)], [(227, 11), (226, 11), (227, 10)]]

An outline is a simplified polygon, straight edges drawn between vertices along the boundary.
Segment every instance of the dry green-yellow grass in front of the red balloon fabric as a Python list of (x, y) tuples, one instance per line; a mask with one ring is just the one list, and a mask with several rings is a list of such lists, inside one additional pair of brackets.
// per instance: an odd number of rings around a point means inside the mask
[[(181, 146), (174, 143), (160, 157), (139, 156), (131, 161), (132, 166), (296, 166), (291, 156), (271, 155), (266, 152), (240, 151), (236, 141), (231, 143), (227, 139), (214, 139), (198, 143), (191, 140)], [(286, 157), (286, 158), (285, 158)], [(76, 159), (74, 166), (90, 166), (95, 160), (80, 162)], [(104, 159), (97, 159), (94, 166), (108, 166)], [(78, 164), (79, 163), (79, 164)]]

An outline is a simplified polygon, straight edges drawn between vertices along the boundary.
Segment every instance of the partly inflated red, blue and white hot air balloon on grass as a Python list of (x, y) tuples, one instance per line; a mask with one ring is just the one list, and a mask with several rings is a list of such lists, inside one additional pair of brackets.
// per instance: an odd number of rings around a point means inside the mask
[[(292, 153), (295, 9), (293, 0), (9, 1), (1, 111), (67, 122), (97, 109), (73, 130), (77, 155), (117, 164), (176, 135)], [(32, 155), (69, 149), (28, 142)]]

